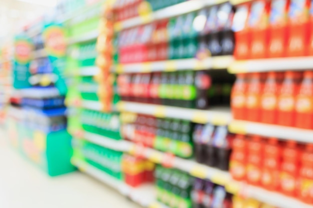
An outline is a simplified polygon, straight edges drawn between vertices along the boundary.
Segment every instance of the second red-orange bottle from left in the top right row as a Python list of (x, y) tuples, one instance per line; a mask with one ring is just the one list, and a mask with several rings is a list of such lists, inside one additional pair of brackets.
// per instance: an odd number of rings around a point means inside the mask
[(251, 4), (248, 17), (250, 28), (250, 58), (265, 58), (268, 45), (268, 13), (270, 1), (256, 0)]

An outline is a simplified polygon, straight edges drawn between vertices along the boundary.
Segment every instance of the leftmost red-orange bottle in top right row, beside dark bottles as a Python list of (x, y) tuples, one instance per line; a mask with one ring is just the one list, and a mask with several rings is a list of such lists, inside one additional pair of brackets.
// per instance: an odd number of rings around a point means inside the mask
[(235, 59), (249, 58), (250, 34), (247, 27), (247, 20), (250, 12), (250, 3), (243, 3), (237, 6), (232, 21), (232, 30), (236, 40), (233, 55)]

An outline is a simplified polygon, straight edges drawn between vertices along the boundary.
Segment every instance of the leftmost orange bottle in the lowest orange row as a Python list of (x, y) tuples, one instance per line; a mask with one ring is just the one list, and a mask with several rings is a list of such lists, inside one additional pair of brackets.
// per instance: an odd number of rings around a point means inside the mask
[(234, 180), (242, 181), (246, 173), (246, 139), (237, 134), (232, 142), (232, 153), (229, 163), (229, 172)]

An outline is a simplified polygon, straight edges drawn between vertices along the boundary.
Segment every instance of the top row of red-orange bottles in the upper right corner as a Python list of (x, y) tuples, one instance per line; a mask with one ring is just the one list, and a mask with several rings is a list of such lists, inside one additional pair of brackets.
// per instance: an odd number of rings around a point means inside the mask
[(310, 0), (255, 0), (238, 5), (236, 59), (313, 54)]

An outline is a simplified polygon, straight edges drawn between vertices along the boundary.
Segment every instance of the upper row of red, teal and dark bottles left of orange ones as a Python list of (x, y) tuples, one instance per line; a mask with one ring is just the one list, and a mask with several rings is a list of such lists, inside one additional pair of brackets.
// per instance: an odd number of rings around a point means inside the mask
[(231, 4), (224, 3), (122, 30), (115, 40), (119, 63), (231, 55), (232, 16)]

